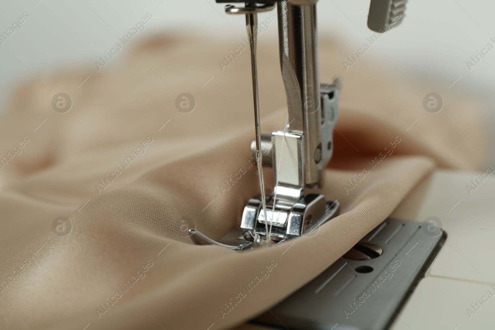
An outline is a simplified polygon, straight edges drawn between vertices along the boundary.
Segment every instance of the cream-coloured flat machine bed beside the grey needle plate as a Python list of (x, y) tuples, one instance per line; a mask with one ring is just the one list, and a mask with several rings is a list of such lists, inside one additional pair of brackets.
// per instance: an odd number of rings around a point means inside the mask
[[(494, 168), (492, 164), (487, 164)], [(424, 222), (436, 216), (447, 240), (426, 278), (399, 313), (392, 330), (494, 329), (495, 313), (495, 174), (469, 194), (467, 185), (480, 173), (436, 171), (420, 184), (392, 217)], [(460, 200), (460, 201), (459, 201)], [(411, 205), (412, 204), (412, 205)], [(418, 210), (414, 210), (413, 206)], [(494, 297), (478, 311), (471, 307), (491, 291)], [(474, 315), (466, 311), (471, 309)]]

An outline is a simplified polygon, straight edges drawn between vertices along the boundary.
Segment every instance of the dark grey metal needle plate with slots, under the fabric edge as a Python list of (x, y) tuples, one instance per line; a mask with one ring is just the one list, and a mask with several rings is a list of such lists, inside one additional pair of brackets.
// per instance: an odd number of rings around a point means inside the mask
[(428, 236), (416, 221), (386, 219), (360, 240), (369, 259), (340, 258), (253, 322), (291, 330), (388, 329), (445, 237)]

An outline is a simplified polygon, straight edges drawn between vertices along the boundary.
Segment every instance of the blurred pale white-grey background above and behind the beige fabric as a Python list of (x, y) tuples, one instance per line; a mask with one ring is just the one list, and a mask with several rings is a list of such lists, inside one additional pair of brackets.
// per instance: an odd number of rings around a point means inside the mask
[[(147, 12), (153, 19), (140, 34), (190, 33), (210, 40), (245, 37), (244, 20), (226, 15), (214, 0), (17, 0), (0, 4), (0, 32), (27, 12), (30, 17), (0, 45), (0, 112), (9, 94), (33, 75), (74, 68), (95, 70), (95, 61)], [(371, 35), (366, 26), (369, 0), (320, 0), (320, 34), (337, 36), (358, 49)], [(391, 70), (394, 61), (412, 81), (429, 79), (458, 93), (474, 94), (494, 104), (495, 50), (469, 71), (466, 61), (495, 39), (494, 1), (412, 0), (403, 22), (381, 38), (368, 56)], [(260, 17), (260, 19), (263, 18)], [(276, 37), (277, 29), (266, 35)], [(129, 51), (131, 47), (122, 51)], [(16, 57), (18, 58), (16, 58)], [(199, 54), (198, 54), (199, 56)], [(121, 56), (123, 57), (123, 56)], [(21, 63), (22, 62), (22, 63)], [(40, 79), (41, 80), (41, 79)]]

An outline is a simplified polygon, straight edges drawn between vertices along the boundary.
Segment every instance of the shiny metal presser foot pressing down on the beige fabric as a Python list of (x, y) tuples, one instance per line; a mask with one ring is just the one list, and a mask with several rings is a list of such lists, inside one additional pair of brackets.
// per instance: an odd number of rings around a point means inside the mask
[(288, 203), (276, 200), (272, 193), (266, 201), (268, 224), (261, 201), (251, 198), (244, 208), (241, 226), (227, 235), (214, 240), (197, 229), (189, 229), (189, 234), (195, 244), (215, 244), (238, 251), (262, 245), (273, 246), (301, 235), (315, 236), (322, 224), (338, 215), (339, 208), (338, 201), (327, 201), (319, 194), (308, 194), (297, 203)]

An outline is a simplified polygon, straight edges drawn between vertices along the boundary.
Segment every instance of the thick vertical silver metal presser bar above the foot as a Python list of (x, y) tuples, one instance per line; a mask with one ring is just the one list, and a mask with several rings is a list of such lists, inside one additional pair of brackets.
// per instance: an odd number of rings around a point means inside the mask
[(304, 184), (313, 186), (322, 168), (316, 1), (293, 2), (278, 1), (280, 63), (290, 132), (304, 135)]

